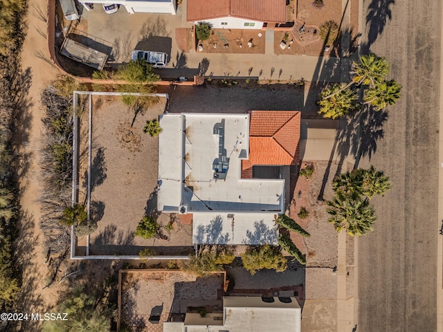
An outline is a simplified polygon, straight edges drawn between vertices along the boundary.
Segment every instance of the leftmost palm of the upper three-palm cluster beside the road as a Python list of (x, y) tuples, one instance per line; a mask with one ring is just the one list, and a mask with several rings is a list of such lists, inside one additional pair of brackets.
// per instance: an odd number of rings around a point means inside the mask
[[(323, 118), (336, 119), (358, 108), (359, 96), (354, 89), (342, 89), (345, 84), (333, 84), (320, 93), (320, 111)], [(328, 97), (329, 95), (329, 97)]]

